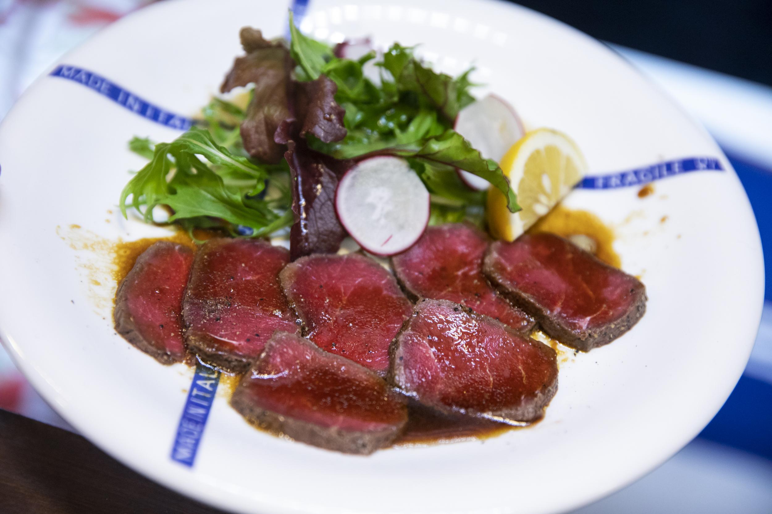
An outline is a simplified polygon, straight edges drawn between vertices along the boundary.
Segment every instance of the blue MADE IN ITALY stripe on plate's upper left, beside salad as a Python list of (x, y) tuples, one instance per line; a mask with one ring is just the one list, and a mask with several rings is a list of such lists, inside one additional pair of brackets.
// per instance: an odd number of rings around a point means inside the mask
[(137, 113), (155, 123), (161, 123), (161, 125), (168, 126), (171, 129), (187, 130), (195, 123), (190, 118), (171, 113), (171, 111), (166, 109), (161, 109), (161, 107), (155, 106), (151, 102), (147, 102), (147, 100), (142, 99), (133, 92), (117, 86), (103, 76), (90, 72), (87, 69), (62, 64), (56, 66), (56, 69), (54, 69), (50, 75), (78, 82), (79, 84), (98, 92), (102, 96), (107, 96), (107, 98), (113, 100), (113, 102), (116, 102), (119, 106), (129, 109), (133, 113)]

